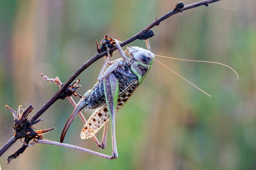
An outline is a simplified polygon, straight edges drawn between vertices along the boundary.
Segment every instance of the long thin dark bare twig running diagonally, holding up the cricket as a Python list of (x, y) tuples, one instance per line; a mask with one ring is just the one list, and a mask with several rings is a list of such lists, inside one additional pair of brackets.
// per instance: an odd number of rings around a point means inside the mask
[[(188, 9), (192, 9), (195, 7), (199, 7), (202, 5), (205, 6), (209, 6), (209, 4), (214, 3), (214, 2), (218, 2), (220, 0), (204, 0), (201, 2), (196, 2), (194, 4), (189, 4), (186, 5), (185, 7), (182, 8), (182, 10), (173, 10), (170, 11), (168, 13), (166, 13), (165, 15), (163, 15), (162, 17), (158, 18), (157, 20), (155, 20), (154, 22), (152, 22), (151, 24), (149, 24), (146, 28), (144, 28), (143, 30), (141, 30), (139, 33), (133, 35), (131, 38), (125, 40), (124, 42), (122, 42), (120, 44), (120, 46), (125, 46), (135, 40), (137, 40), (137, 38), (139, 37), (139, 35), (141, 35), (141, 33), (143, 33), (144, 31), (148, 31), (149, 29), (153, 28), (154, 26), (157, 26), (160, 24), (160, 22), (162, 22), (163, 20), (171, 17), (172, 15), (188, 10)], [(117, 49), (117, 47), (113, 47), (112, 49), (110, 49), (110, 52), (115, 51)], [(78, 68), (71, 76), (69, 79), (67, 79), (67, 81), (63, 84), (63, 86), (61, 86), (61, 88), (58, 89), (58, 91), (46, 102), (46, 104), (40, 108), (40, 110), (38, 110), (38, 112), (31, 117), (30, 121), (36, 121), (36, 119), (38, 119), (50, 106), (52, 106), (52, 104), (54, 104), (54, 102), (56, 102), (59, 99), (59, 95), (61, 95), (61, 93), (63, 93), (65, 91), (65, 89), (74, 81), (74, 79), (81, 74), (86, 68), (88, 68), (92, 63), (94, 63), (95, 61), (99, 60), (101, 57), (107, 55), (107, 52), (104, 51), (102, 53), (97, 53), (95, 54), (92, 58), (90, 58), (90, 60), (88, 60), (87, 62), (85, 62), (80, 68)], [(4, 152), (6, 152), (6, 150), (8, 150), (8, 148), (14, 144), (14, 142), (17, 139), (15, 139), (15, 137), (12, 137), (1, 149), (0, 149), (0, 156), (2, 156), (2, 154)]]

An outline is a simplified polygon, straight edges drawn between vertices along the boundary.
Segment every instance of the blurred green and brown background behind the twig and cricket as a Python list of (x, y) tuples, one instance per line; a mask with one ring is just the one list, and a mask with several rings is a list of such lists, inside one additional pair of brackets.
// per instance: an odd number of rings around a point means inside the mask
[[(184, 0), (185, 4), (196, 2)], [(13, 135), (12, 108), (34, 106), (35, 113), (58, 87), (40, 73), (65, 80), (96, 53), (95, 39), (107, 33), (126, 40), (173, 9), (176, 0), (1, 0), (0, 1), (0, 147)], [(216, 8), (221, 7), (221, 8)], [(225, 9), (232, 8), (232, 9)], [(129, 102), (118, 112), (119, 158), (48, 145), (28, 148), (2, 169), (27, 170), (255, 170), (256, 169), (256, 1), (222, 0), (210, 7), (184, 11), (153, 28), (153, 53), (189, 60), (208, 60), (223, 66), (159, 58), (202, 88), (207, 97), (163, 66), (152, 70)], [(144, 41), (130, 45), (145, 48)], [(123, 48), (125, 49), (125, 48)], [(118, 53), (112, 60), (118, 58)], [(103, 66), (98, 60), (86, 69), (78, 90), (92, 88)], [(76, 99), (78, 101), (78, 99)], [(57, 101), (37, 129), (55, 127), (44, 137), (59, 141), (72, 106)], [(85, 113), (90, 117), (92, 111)], [(32, 114), (33, 115), (33, 114)], [(30, 115), (31, 116), (31, 115)], [(82, 121), (70, 127), (65, 142), (111, 154), (92, 139), (80, 139)], [(102, 130), (97, 133), (101, 139)]]

